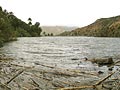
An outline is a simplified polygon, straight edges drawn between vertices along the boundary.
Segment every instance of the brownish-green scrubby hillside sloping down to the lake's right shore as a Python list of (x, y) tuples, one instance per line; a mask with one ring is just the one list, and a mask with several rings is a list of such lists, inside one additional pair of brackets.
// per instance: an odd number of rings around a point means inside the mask
[(120, 16), (101, 18), (94, 23), (63, 32), (61, 36), (97, 36), (97, 37), (120, 37)]

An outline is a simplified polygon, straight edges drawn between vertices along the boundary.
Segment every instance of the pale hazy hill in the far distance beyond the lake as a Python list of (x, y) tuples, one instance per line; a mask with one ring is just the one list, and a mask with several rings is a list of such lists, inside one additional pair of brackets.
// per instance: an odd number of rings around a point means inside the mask
[(53, 33), (54, 35), (58, 35), (65, 31), (72, 31), (78, 27), (68, 27), (68, 26), (41, 26), (42, 34), (45, 32), (46, 34)]

